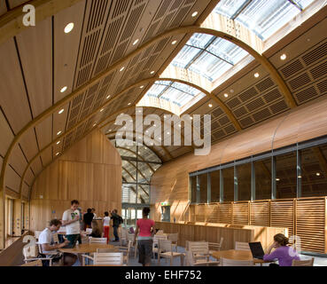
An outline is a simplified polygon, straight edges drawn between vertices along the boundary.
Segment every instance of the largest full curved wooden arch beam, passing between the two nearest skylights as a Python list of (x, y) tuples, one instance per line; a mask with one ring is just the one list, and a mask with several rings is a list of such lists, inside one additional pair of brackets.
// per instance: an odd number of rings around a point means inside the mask
[[(35, 1), (37, 1), (37, 0), (35, 0)], [(60, 1), (63, 1), (63, 0), (60, 0)], [(125, 63), (129, 59), (132, 59), (138, 53), (146, 50), (153, 43), (157, 43), (165, 37), (177, 36), (180, 34), (189, 34), (189, 33), (202, 33), (202, 34), (207, 34), (207, 35), (212, 35), (212, 36), (219, 36), (219, 37), (222, 37), (222, 38), (230, 41), (231, 43), (237, 44), (241, 48), (245, 49), (245, 51), (248, 51), (255, 59), (257, 59), (263, 65), (263, 67), (265, 67), (268, 70), (270, 76), (276, 81), (278, 87), (281, 89), (282, 93), (284, 94), (285, 100), (288, 103), (288, 105), (290, 107), (296, 106), (295, 100), (292, 98), (291, 92), (289, 91), (287, 85), (284, 83), (284, 80), (281, 77), (281, 75), (278, 74), (276, 68), (272, 66), (272, 64), (269, 62), (268, 59), (266, 59), (264, 56), (259, 54), (257, 51), (254, 51), (246, 43), (243, 43), (242, 41), (238, 40), (236, 37), (230, 36), (229, 34), (226, 34), (221, 31), (217, 31), (217, 30), (214, 30), (211, 28), (199, 28), (198, 26), (186, 26), (186, 27), (182, 27), (182, 28), (173, 28), (171, 30), (168, 30), (168, 31), (160, 34), (159, 36), (155, 36), (147, 43), (144, 43), (142, 46), (138, 47), (135, 51), (130, 52), (126, 57), (124, 57), (123, 59), (118, 60), (116, 63), (114, 63), (112, 67), (107, 68), (101, 74), (99, 74), (96, 77), (94, 77), (93, 79), (91, 79), (89, 81), (89, 83), (83, 84), (77, 90), (75, 90), (71, 94), (67, 95), (66, 98), (59, 100), (55, 105), (53, 105), (50, 108), (48, 108), (47, 110), (45, 110), (42, 114), (39, 114), (38, 116), (36, 116), (35, 119), (33, 119), (31, 122), (28, 122), (27, 125), (22, 130), (19, 130), (19, 133), (13, 138), (12, 144), (11, 144), (11, 146), (9, 146), (7, 153), (4, 156), (3, 167), (2, 167), (1, 175), (0, 175), (0, 191), (4, 190), (5, 170), (6, 170), (8, 161), (9, 161), (10, 154), (12, 153), (12, 149), (14, 146), (16, 146), (16, 144), (19, 142), (22, 135), (27, 130), (35, 127), (35, 125), (37, 123), (42, 122), (44, 119), (46, 119), (46, 117), (48, 115), (53, 114), (56, 110), (58, 110), (59, 107), (64, 106), (67, 102), (69, 102), (70, 100), (77, 97), (83, 91), (88, 90), (90, 85), (100, 82), (102, 79), (105, 78), (105, 75), (108, 75), (114, 69), (120, 67), (121, 64)], [(146, 80), (144, 80), (144, 82), (146, 82)], [(131, 88), (133, 88), (133, 87), (129, 87), (127, 89), (130, 90)], [(110, 101), (112, 101), (112, 100), (109, 100), (107, 103), (109, 103)]]

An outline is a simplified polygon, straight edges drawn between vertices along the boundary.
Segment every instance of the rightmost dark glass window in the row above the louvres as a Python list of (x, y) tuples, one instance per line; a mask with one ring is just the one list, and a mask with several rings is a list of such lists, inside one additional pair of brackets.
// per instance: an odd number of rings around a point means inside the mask
[(300, 150), (301, 197), (327, 195), (327, 145)]

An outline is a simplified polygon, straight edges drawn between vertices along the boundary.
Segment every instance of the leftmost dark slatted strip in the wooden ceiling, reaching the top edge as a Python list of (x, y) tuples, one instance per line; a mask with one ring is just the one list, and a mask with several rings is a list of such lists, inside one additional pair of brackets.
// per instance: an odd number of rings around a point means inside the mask
[[(126, 3), (128, 2), (121, 2), (121, 4)], [(90, 80), (110, 6), (111, 1), (108, 0), (93, 0), (87, 3), (74, 88)]]

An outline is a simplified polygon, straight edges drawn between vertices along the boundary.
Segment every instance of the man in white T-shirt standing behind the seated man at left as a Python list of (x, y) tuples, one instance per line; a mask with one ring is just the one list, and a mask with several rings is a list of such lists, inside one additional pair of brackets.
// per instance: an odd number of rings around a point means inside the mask
[(67, 209), (63, 216), (63, 225), (66, 226), (66, 238), (69, 241), (69, 247), (73, 248), (76, 241), (81, 241), (80, 212), (77, 210), (80, 205), (79, 201), (71, 201), (70, 209)]

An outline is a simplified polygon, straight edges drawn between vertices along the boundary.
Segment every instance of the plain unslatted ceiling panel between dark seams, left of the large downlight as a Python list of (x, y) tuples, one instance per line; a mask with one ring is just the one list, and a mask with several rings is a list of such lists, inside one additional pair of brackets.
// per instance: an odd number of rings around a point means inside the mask
[(52, 105), (51, 18), (25, 29), (17, 36), (17, 44), (35, 117)]

